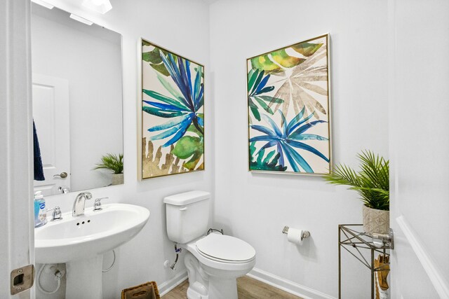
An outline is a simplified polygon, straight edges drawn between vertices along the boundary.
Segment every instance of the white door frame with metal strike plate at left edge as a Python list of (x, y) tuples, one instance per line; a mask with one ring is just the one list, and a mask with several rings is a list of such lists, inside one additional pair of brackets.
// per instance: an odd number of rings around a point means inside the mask
[[(31, 299), (34, 263), (30, 1), (0, 1), (0, 298)], [(28, 284), (28, 286), (25, 286)], [(18, 291), (17, 295), (12, 295)]]

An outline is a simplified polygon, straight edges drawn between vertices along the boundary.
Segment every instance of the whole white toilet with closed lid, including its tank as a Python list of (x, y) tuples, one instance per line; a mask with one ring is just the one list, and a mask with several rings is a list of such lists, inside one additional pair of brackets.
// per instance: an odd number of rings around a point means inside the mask
[(236, 278), (255, 265), (250, 244), (227, 235), (206, 235), (210, 193), (190, 191), (165, 197), (168, 239), (187, 249), (189, 299), (237, 299)]

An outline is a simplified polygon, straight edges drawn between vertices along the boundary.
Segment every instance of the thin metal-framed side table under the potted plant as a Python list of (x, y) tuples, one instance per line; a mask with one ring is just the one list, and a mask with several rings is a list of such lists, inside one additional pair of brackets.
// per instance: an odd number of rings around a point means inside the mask
[[(373, 237), (363, 232), (362, 224), (340, 224), (338, 225), (338, 298), (342, 298), (342, 248), (351, 253), (363, 265), (371, 271), (371, 299), (375, 297), (375, 272), (385, 270), (386, 265), (375, 267), (375, 253), (389, 256), (389, 250), (393, 248), (392, 242), (378, 239), (375, 245)], [(370, 250), (371, 258), (367, 260), (362, 254), (362, 250)]]

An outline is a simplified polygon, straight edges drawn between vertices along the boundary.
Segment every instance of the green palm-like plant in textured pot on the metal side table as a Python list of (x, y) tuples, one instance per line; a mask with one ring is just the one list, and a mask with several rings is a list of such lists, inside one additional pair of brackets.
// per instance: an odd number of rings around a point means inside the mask
[(360, 171), (356, 172), (347, 165), (338, 165), (325, 176), (326, 181), (335, 185), (350, 186), (356, 190), (363, 202), (363, 230), (389, 233), (389, 160), (385, 160), (371, 151), (362, 151), (357, 155)]

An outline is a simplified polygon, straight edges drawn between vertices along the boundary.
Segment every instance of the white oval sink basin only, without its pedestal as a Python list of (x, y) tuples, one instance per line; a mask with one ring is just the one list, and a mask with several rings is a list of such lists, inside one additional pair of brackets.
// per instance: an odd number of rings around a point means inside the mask
[(36, 263), (67, 263), (110, 251), (142, 230), (149, 211), (132, 204), (103, 204), (82, 216), (62, 214), (34, 230)]

